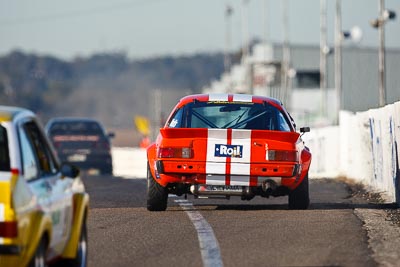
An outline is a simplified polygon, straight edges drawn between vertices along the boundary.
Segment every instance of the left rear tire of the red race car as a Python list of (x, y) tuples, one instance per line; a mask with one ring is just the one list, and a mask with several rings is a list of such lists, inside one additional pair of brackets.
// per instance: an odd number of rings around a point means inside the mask
[(151, 174), (147, 164), (147, 210), (165, 211), (167, 209), (168, 190), (159, 185)]

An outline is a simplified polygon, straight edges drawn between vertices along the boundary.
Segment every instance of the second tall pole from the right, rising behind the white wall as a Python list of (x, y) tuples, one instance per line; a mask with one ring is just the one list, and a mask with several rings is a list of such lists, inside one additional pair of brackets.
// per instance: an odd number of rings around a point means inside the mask
[(335, 12), (335, 88), (336, 88), (336, 123), (339, 124), (339, 112), (342, 108), (342, 7), (341, 0), (336, 0)]

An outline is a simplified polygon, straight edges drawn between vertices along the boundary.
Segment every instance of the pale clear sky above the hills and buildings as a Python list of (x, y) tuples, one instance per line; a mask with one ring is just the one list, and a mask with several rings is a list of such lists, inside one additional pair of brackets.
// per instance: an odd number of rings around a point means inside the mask
[[(246, 0), (251, 38), (281, 42), (283, 0)], [(131, 58), (223, 51), (225, 8), (231, 16), (232, 49), (242, 44), (244, 0), (0, 0), (0, 55), (14, 49), (72, 59), (124, 51)], [(328, 40), (333, 45), (335, 0), (328, 2)], [(319, 44), (319, 0), (288, 0), (289, 39)], [(386, 0), (398, 18), (386, 24), (386, 45), (400, 49), (400, 1)], [(361, 27), (360, 46), (376, 47), (369, 25), (378, 0), (342, 0), (342, 28)], [(267, 23), (264, 23), (267, 22)], [(267, 25), (265, 25), (267, 24)], [(346, 40), (344, 45), (354, 45)]]

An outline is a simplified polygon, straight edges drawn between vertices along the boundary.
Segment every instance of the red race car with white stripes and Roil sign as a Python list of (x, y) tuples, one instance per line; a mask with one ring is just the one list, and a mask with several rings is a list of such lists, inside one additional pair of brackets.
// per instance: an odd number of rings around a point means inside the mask
[(295, 127), (273, 98), (182, 98), (147, 149), (147, 209), (164, 211), (168, 194), (188, 193), (243, 200), (288, 195), (290, 209), (307, 209), (311, 153)]

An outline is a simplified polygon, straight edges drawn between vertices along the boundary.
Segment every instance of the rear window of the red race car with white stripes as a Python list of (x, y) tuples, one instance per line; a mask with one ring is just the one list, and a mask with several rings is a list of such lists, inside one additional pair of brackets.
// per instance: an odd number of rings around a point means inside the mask
[(193, 102), (175, 111), (170, 128), (219, 128), (291, 131), (276, 107), (259, 103)]

